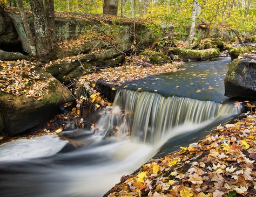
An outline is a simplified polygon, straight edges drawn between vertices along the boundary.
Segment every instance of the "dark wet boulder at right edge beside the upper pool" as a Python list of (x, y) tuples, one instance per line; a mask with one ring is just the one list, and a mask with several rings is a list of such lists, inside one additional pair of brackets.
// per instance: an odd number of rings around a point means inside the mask
[(256, 98), (256, 62), (253, 59), (235, 59), (225, 78), (225, 96)]

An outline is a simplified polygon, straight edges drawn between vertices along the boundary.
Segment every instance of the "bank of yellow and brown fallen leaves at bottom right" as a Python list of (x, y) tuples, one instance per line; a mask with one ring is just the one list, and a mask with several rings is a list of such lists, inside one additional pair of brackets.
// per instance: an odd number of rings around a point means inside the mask
[[(248, 107), (254, 108), (250, 103)], [(105, 196), (256, 196), (256, 114), (122, 177)]]

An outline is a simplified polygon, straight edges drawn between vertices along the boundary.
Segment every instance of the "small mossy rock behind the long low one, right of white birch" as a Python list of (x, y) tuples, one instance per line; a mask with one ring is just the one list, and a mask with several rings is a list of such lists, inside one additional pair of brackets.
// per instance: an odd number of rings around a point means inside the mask
[(226, 44), (220, 39), (204, 39), (200, 40), (197, 48), (199, 50), (206, 50), (208, 48), (218, 48), (220, 51), (224, 49)]

